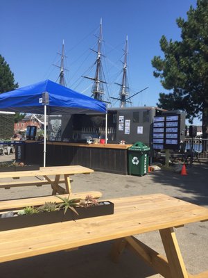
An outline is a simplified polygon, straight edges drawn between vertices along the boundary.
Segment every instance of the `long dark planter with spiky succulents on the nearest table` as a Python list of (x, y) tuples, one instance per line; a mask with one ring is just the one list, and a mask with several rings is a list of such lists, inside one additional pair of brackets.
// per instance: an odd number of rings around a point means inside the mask
[(27, 206), (19, 211), (1, 213), (0, 231), (114, 213), (112, 202), (98, 202), (91, 195), (87, 195), (85, 199), (70, 199), (69, 196), (57, 197), (62, 200), (60, 204), (46, 202), (42, 206)]

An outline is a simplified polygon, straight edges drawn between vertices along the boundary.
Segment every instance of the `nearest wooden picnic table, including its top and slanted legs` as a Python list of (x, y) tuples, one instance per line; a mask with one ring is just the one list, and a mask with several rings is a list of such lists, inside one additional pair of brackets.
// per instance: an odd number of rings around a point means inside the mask
[[(199, 275), (187, 272), (173, 229), (208, 220), (207, 208), (163, 194), (110, 201), (114, 202), (113, 215), (1, 231), (0, 262), (115, 240), (112, 248), (114, 261), (125, 247), (129, 247), (166, 278), (208, 277), (208, 272)], [(150, 231), (159, 231), (166, 257), (133, 237)]]

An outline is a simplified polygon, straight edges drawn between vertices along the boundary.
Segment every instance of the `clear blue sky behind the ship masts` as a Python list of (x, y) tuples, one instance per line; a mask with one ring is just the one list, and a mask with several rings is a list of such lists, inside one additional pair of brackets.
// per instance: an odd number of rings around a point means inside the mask
[[(128, 35), (128, 79), (133, 106), (155, 106), (159, 92), (165, 92), (153, 76), (151, 60), (161, 55), (162, 35), (180, 40), (177, 17), (187, 18), (196, 0), (0, 0), (0, 54), (10, 65), (19, 87), (44, 79), (56, 81), (64, 39), (67, 85), (91, 95), (92, 83), (80, 76), (96, 59), (89, 49), (96, 47), (100, 19), (103, 19), (103, 68), (110, 84), (106, 92), (118, 97), (125, 36)], [(119, 103), (114, 104), (119, 106)]]

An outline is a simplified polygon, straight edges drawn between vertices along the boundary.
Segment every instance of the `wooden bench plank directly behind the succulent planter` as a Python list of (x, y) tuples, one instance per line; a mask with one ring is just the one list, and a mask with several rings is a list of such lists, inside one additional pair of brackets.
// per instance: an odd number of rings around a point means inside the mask
[[(85, 199), (87, 195), (92, 195), (94, 198), (102, 197), (102, 193), (99, 191), (86, 191), (80, 193), (71, 193), (70, 199)], [(69, 194), (58, 195), (59, 197), (68, 197)], [(52, 196), (44, 196), (44, 197), (33, 197), (26, 199), (12, 199), (6, 201), (0, 201), (0, 213), (3, 213), (12, 209), (21, 209), (26, 206), (41, 206), (45, 202), (56, 202), (57, 204), (61, 203), (62, 200)]]

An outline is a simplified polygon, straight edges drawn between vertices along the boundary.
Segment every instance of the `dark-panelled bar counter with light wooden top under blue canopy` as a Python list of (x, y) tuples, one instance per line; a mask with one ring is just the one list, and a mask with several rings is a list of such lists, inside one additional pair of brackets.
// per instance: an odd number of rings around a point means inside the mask
[[(128, 174), (128, 148), (121, 144), (46, 142), (46, 165), (81, 165), (95, 171)], [(26, 141), (25, 163), (43, 164), (43, 143)]]

